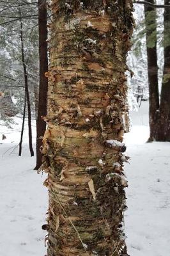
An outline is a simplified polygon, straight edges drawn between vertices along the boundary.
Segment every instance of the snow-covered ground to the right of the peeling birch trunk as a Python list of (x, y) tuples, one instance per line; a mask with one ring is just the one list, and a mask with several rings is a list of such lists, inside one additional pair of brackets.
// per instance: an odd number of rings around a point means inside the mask
[(148, 139), (147, 102), (133, 113), (125, 136), (128, 178), (125, 227), (131, 256), (167, 256), (170, 243), (170, 143)]

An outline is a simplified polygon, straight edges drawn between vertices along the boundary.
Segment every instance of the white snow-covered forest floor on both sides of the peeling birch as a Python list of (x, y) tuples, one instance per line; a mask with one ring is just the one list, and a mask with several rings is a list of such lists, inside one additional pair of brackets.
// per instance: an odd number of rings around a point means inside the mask
[[(125, 227), (128, 253), (131, 256), (167, 256), (170, 243), (170, 143), (145, 143), (148, 139), (148, 102), (132, 113), (132, 129), (125, 134), (130, 164), (125, 165), (128, 178)], [(23, 154), (18, 156), (20, 119), (14, 130), (0, 126), (0, 255), (45, 255), (41, 229), (47, 212), (45, 174), (33, 168), (27, 135)], [(19, 127), (19, 128), (18, 128)], [(35, 137), (35, 134), (34, 134)], [(13, 148), (12, 148), (13, 147)], [(8, 151), (7, 151), (8, 150)]]

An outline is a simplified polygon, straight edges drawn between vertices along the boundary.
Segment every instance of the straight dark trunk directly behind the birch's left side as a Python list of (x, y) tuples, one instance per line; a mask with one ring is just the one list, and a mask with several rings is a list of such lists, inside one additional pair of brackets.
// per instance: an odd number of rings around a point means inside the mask
[(39, 24), (39, 56), (40, 56), (40, 85), (38, 100), (38, 118), (36, 124), (36, 167), (38, 170), (42, 164), (42, 136), (46, 129), (46, 124), (42, 120), (42, 116), (47, 115), (47, 90), (48, 79), (45, 72), (48, 71), (48, 55), (47, 55), (47, 1), (38, 1), (38, 24)]

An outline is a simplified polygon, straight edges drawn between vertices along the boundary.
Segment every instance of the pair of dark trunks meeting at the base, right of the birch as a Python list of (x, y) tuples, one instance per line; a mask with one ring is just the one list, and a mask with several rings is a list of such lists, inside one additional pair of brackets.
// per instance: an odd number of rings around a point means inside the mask
[[(159, 95), (158, 90), (158, 65), (157, 65), (157, 17), (155, 1), (149, 0), (151, 4), (144, 5), (146, 20), (146, 44), (150, 35), (155, 35), (153, 47), (147, 46), (148, 56), (148, 82), (150, 92), (150, 138), (149, 141), (170, 141), (170, 4), (164, 1), (164, 70), (162, 77), (162, 88)], [(167, 8), (168, 6), (168, 8)], [(152, 19), (150, 19), (150, 15)], [(147, 44), (148, 45), (148, 44)]]

